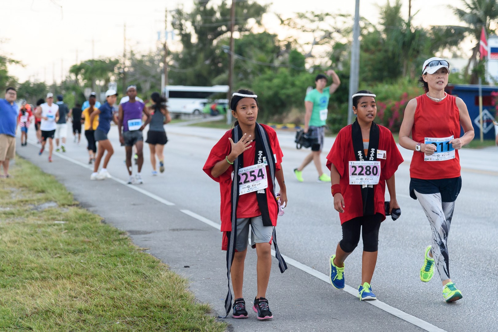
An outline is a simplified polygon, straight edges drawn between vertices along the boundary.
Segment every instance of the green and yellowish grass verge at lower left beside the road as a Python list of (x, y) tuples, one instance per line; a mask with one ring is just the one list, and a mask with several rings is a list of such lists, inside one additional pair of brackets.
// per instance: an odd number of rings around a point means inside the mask
[[(53, 176), (20, 158), (11, 173), (0, 179), (0, 331), (225, 331), (186, 279)], [(33, 209), (47, 201), (58, 207)]]

